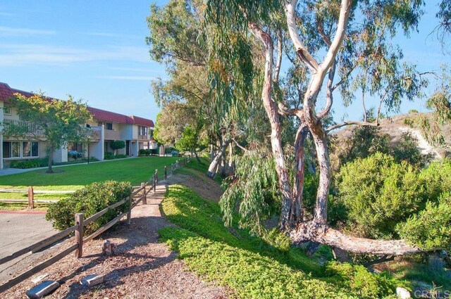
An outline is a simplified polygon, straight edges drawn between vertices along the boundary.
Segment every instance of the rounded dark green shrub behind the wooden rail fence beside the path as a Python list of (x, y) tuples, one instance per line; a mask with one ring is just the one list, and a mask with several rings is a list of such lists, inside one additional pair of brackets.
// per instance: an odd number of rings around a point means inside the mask
[[(46, 219), (53, 220), (56, 229), (63, 230), (75, 224), (75, 213), (84, 213), (85, 218), (94, 215), (113, 203), (130, 196), (131, 184), (129, 182), (95, 182), (73, 193), (68, 198), (63, 198), (57, 203), (49, 205)], [(109, 210), (98, 220), (85, 228), (85, 234), (90, 234), (107, 222), (128, 210), (128, 205), (120, 205), (115, 210)]]

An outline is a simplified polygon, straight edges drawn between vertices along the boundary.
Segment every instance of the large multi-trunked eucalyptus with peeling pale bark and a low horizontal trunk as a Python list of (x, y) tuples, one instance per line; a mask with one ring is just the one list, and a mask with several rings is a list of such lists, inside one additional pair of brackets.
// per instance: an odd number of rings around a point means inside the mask
[[(399, 30), (409, 34), (416, 28), (422, 5), (421, 0), (208, 1), (207, 20), (210, 25), (217, 25), (216, 69), (223, 69), (221, 63), (233, 63), (237, 65), (234, 77), (248, 79), (251, 75), (247, 72), (252, 70), (252, 65), (247, 64), (252, 59), (243, 56), (250, 53), (265, 58), (261, 100), (271, 124), (271, 148), (283, 198), (280, 227), (289, 231), (292, 241), (318, 241), (354, 253), (380, 255), (420, 250), (402, 240), (353, 238), (331, 229), (327, 206), (330, 188), (328, 132), (346, 125), (378, 126), (382, 106), (396, 110), (403, 99), (421, 96), (425, 80), (414, 66), (401, 65), (402, 52), (390, 44), (390, 39)], [(283, 26), (282, 19), (285, 20)], [(278, 95), (278, 72), (283, 60), (277, 58), (274, 62), (274, 44), (282, 30), (282, 34), (290, 37), (288, 44), (297, 60), (295, 68), (302, 65), (301, 68), (307, 70), (308, 83), (302, 91), (302, 101), (295, 106), (289, 106), (286, 98)], [(261, 46), (241, 44), (247, 42), (249, 34), (261, 42)], [(222, 60), (221, 56), (224, 56)], [(338, 82), (334, 82), (336, 74)], [(220, 72), (216, 75), (221, 77)], [(326, 127), (324, 120), (330, 115), (337, 89), (341, 91), (344, 104), (354, 100), (357, 90), (362, 91), (364, 110), (365, 95), (377, 97), (376, 120), (346, 121)], [(319, 106), (321, 96), (326, 98), (322, 107)], [(295, 117), (298, 124), (293, 147), (297, 158), (294, 186), (290, 182), (281, 135), (280, 122), (284, 116)], [(302, 155), (308, 133), (312, 136), (319, 165), (319, 187), (311, 219), (302, 215), (302, 196), (299, 196), (304, 175)]]

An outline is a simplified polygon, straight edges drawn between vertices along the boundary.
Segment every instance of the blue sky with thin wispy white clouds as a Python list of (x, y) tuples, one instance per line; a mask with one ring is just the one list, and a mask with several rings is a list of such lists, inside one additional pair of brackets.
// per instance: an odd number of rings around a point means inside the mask
[[(443, 54), (433, 34), (428, 37), (438, 24), (438, 1), (426, 2), (419, 32), (398, 39), (405, 59), (423, 71), (451, 63), (451, 55)], [(155, 120), (159, 108), (150, 80), (165, 72), (150, 61), (144, 41), (152, 3), (166, 1), (2, 0), (0, 81), (56, 98), (70, 94), (89, 106)], [(359, 101), (348, 108), (335, 101), (333, 108), (336, 120), (362, 114)], [(401, 112), (410, 108), (426, 110), (424, 101), (416, 101), (404, 103)]]

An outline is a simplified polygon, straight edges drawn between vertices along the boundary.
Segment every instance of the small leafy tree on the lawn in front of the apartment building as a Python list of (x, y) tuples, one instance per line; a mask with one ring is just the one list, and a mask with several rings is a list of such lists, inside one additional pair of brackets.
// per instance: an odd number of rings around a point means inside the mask
[(17, 109), (22, 122), (5, 122), (5, 136), (20, 136), (25, 139), (46, 141), (49, 148), (49, 169), (51, 173), (52, 155), (57, 148), (67, 146), (68, 141), (79, 142), (89, 135), (89, 129), (84, 125), (91, 117), (85, 104), (47, 98), (43, 94), (33, 94), (30, 97), (14, 94), (10, 98)]

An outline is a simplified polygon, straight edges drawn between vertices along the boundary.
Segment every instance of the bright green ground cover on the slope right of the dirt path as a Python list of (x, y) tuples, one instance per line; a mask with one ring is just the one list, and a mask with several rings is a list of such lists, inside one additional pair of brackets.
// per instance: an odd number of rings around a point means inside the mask
[[(179, 172), (202, 177), (204, 167), (192, 162)], [(330, 259), (327, 246), (321, 255), (307, 257), (276, 230), (259, 238), (236, 223), (224, 227), (218, 203), (185, 186), (169, 188), (163, 212), (178, 227), (161, 229), (161, 241), (177, 251), (190, 270), (229, 286), (239, 298), (396, 298), (396, 286), (409, 287), (406, 281), (371, 274), (363, 266), (320, 263)]]

